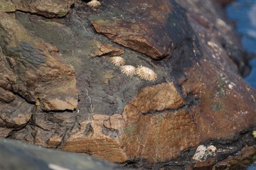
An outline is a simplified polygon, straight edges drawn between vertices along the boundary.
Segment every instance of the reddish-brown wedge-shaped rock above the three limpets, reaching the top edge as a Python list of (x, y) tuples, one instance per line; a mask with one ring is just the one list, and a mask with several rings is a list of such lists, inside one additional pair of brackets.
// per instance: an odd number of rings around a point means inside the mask
[[(171, 55), (169, 51), (171, 39), (168, 36), (170, 27), (163, 25), (172, 13), (171, 4), (166, 0), (145, 1), (145, 3), (150, 4), (150, 6), (146, 6), (143, 2), (131, 0), (125, 2), (127, 5), (124, 4), (124, 10), (129, 13), (137, 13), (138, 8), (144, 8), (144, 12), (140, 11), (142, 12), (140, 17), (130, 18), (130, 16), (123, 14), (122, 16), (127, 17), (127, 19), (101, 19), (93, 21), (92, 26), (97, 33), (106, 35), (114, 42), (142, 52), (154, 59)], [(129, 8), (128, 4), (134, 4), (137, 8)], [(159, 4), (163, 5), (159, 6)], [(152, 26), (149, 26), (149, 23), (152, 23)]]

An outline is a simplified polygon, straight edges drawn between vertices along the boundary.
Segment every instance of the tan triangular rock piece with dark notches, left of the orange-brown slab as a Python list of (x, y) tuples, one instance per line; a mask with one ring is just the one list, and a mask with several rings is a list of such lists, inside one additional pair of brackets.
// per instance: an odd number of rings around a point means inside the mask
[[(125, 162), (127, 157), (118, 138), (119, 130), (107, 129), (103, 132), (102, 125), (105, 120), (109, 119), (108, 115), (93, 115), (93, 120), (85, 120), (80, 123), (80, 131), (71, 135), (65, 141), (62, 149), (71, 152), (85, 152), (111, 162)], [(117, 124), (122, 125), (123, 120), (119, 119), (119, 121), (120, 123)]]

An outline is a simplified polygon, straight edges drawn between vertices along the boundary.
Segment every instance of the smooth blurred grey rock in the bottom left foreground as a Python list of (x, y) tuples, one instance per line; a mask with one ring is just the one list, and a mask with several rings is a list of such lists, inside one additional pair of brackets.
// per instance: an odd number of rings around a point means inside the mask
[[(89, 156), (0, 139), (1, 169), (124, 169)], [(10, 159), (11, 158), (11, 159)]]

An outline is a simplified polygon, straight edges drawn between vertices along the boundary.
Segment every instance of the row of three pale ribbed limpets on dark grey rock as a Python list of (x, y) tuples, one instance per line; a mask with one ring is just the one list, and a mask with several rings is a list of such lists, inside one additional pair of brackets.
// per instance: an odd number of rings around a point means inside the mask
[(135, 68), (132, 65), (124, 65), (125, 61), (122, 57), (111, 57), (110, 62), (115, 66), (120, 67), (121, 72), (127, 76), (132, 77), (133, 75), (137, 74), (141, 79), (146, 79), (148, 81), (155, 81), (157, 78), (157, 74), (148, 67), (141, 65)]

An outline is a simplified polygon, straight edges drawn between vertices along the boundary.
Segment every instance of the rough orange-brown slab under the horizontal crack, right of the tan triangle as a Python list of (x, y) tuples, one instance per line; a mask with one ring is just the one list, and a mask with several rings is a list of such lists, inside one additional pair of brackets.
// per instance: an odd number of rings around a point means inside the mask
[(127, 122), (121, 140), (129, 159), (166, 162), (200, 142), (193, 117), (186, 110), (142, 115), (129, 105), (123, 114)]

